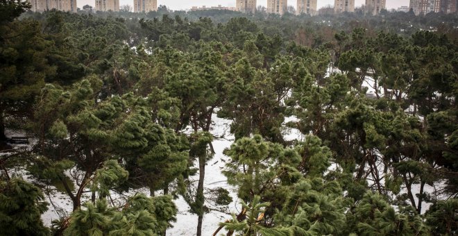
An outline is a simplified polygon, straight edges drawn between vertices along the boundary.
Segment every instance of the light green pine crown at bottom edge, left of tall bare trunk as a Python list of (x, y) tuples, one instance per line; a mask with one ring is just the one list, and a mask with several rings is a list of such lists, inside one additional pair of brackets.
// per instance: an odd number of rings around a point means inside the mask
[(121, 210), (109, 207), (106, 199), (84, 205), (71, 214), (64, 235), (162, 235), (176, 221), (170, 196), (135, 194)]

